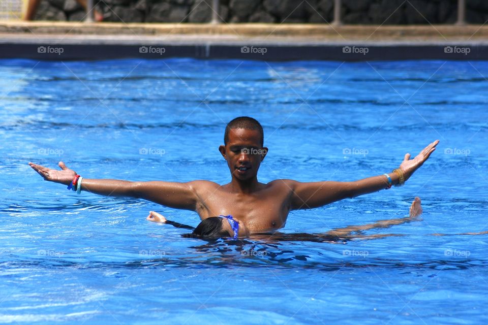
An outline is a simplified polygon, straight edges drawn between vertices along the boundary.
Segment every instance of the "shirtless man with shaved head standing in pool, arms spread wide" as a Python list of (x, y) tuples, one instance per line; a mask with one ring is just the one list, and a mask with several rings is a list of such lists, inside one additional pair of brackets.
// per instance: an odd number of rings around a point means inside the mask
[[(196, 180), (187, 183), (83, 178), (79, 188), (113, 197), (133, 197), (170, 208), (192, 210), (200, 219), (232, 215), (246, 225), (249, 233), (272, 232), (283, 228), (291, 210), (317, 208), (346, 198), (376, 192), (403, 184), (435, 151), (439, 140), (426, 146), (415, 158), (407, 153), (395, 172), (353, 182), (298, 182), (278, 179), (260, 183), (257, 174), (268, 148), (263, 146), (261, 124), (250, 117), (238, 117), (225, 129), (224, 145), (219, 151), (227, 161), (231, 181), (225, 185)], [(69, 185), (77, 175), (66, 167), (49, 169), (29, 165), (45, 180)]]

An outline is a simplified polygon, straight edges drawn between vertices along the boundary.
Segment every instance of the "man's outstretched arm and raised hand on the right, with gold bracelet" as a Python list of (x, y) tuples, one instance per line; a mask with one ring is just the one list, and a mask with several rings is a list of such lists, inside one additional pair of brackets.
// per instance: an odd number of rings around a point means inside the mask
[[(439, 140), (436, 140), (426, 146), (413, 159), (410, 159), (410, 154), (407, 153), (399, 168), (401, 172), (391, 172), (388, 174), (391, 179), (391, 184), (399, 184), (402, 173), (404, 177), (403, 182), (408, 180), (436, 150), (438, 143)], [(302, 183), (292, 180), (287, 180), (286, 182), (293, 190), (290, 204), (291, 210), (317, 208), (342, 199), (354, 198), (362, 194), (376, 192), (389, 186), (388, 177), (385, 175), (368, 177), (354, 182), (324, 181)]]

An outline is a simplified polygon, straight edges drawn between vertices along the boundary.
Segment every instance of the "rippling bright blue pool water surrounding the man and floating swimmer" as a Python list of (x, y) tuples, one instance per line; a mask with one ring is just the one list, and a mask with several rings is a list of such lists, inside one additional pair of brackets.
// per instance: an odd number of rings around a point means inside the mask
[[(0, 322), (486, 323), (488, 62), (0, 61)], [(28, 161), (87, 178), (230, 180), (239, 115), (264, 126), (259, 180), (390, 172), (439, 139), (404, 187), (305, 211), (284, 233), (404, 217), (347, 242), (182, 238), (150, 210), (76, 193)], [(432, 234), (450, 236), (432, 236)], [(483, 307), (484, 306), (484, 307)]]

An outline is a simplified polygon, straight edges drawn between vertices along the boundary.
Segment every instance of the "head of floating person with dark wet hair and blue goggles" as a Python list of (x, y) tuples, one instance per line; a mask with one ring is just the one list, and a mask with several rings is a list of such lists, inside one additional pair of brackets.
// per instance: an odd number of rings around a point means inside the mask
[(193, 233), (185, 235), (185, 237), (199, 237), (199, 238), (220, 238), (249, 236), (249, 230), (246, 225), (232, 216), (219, 216), (203, 219)]

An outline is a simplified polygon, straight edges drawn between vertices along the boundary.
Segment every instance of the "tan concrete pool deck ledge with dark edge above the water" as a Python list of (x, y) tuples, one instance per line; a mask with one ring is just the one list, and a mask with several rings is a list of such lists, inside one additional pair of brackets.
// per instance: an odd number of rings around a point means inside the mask
[(148, 24), (0, 21), (0, 58), (485, 60), (488, 25)]

